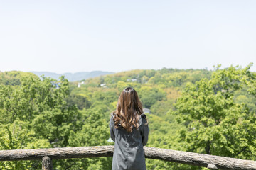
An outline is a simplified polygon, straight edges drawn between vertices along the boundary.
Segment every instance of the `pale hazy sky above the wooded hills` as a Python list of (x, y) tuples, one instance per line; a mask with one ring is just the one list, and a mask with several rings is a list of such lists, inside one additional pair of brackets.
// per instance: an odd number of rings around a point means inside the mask
[(0, 0), (0, 71), (256, 71), (256, 1)]

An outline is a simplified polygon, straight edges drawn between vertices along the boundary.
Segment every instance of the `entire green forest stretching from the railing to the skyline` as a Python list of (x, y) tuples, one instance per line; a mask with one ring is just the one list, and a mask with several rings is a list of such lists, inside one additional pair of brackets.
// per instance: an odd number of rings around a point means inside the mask
[[(114, 145), (110, 113), (132, 86), (149, 122), (148, 147), (256, 160), (256, 73), (247, 67), (137, 69), (69, 82), (0, 72), (0, 149)], [(80, 84), (80, 86), (78, 86)], [(54, 169), (111, 169), (112, 157), (54, 159)], [(149, 170), (204, 169), (146, 159)], [(0, 162), (41, 169), (41, 161)]]

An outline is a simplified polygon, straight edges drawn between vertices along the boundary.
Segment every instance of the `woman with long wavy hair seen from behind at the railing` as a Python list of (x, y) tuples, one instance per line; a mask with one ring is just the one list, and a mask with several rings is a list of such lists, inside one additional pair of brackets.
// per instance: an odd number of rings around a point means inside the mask
[(143, 146), (148, 135), (149, 126), (139, 96), (132, 87), (127, 87), (110, 118), (110, 136), (114, 140), (112, 170), (146, 169)]

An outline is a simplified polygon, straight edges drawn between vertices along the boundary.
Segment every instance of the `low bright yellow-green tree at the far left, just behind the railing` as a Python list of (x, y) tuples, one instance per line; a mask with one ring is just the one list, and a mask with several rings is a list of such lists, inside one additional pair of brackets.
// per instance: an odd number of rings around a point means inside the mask
[[(30, 123), (15, 120), (14, 123), (0, 125), (0, 149), (38, 149), (51, 147), (47, 139), (36, 137)], [(41, 161), (0, 162), (0, 169), (38, 169)]]

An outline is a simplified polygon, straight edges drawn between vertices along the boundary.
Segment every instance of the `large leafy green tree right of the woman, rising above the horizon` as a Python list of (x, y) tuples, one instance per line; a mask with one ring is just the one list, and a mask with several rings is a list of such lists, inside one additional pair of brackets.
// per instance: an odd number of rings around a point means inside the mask
[(180, 142), (190, 152), (255, 159), (256, 117), (245, 103), (235, 103), (234, 93), (244, 86), (253, 94), (255, 73), (250, 65), (220, 69), (211, 79), (188, 84), (176, 102)]

